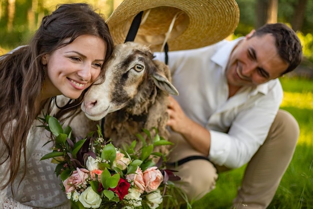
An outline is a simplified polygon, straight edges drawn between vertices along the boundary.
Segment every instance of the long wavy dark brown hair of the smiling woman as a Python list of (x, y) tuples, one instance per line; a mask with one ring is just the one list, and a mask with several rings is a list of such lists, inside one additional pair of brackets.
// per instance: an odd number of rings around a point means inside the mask
[[(72, 43), (81, 35), (102, 38), (106, 43), (105, 62), (109, 59), (113, 41), (108, 27), (103, 16), (94, 12), (88, 4), (58, 5), (51, 15), (42, 19), (29, 45), (0, 57), (0, 164), (8, 161), (9, 173), (2, 187), (13, 183), (22, 156), (26, 160), (26, 138), (38, 114), (34, 104), (44, 82), (41, 57)], [(103, 70), (101, 75), (104, 75)], [(74, 109), (80, 104), (84, 92), (64, 109)], [(41, 108), (44, 106), (40, 105)]]

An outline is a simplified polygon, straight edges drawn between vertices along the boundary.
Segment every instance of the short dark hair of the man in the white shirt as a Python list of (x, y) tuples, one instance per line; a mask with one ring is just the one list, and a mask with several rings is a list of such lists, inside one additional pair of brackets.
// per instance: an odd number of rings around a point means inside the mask
[(282, 73), (294, 70), (302, 60), (302, 46), (296, 33), (282, 23), (265, 24), (258, 28), (253, 36), (271, 34), (275, 38), (275, 45), (279, 56), (288, 63), (288, 68)]

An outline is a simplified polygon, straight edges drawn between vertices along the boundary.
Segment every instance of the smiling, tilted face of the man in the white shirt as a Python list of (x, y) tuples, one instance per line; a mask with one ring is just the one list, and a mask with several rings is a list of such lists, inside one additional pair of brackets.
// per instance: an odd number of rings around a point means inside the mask
[(256, 86), (281, 76), (288, 67), (277, 53), (272, 35), (252, 36), (253, 33), (241, 40), (230, 54), (226, 67), (229, 86)]

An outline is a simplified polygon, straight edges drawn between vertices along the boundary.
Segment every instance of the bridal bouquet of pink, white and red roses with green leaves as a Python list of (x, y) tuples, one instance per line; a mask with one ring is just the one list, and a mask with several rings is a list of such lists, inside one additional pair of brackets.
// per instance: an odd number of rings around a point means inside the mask
[[(51, 132), (54, 147), (41, 160), (52, 158), (55, 173), (72, 207), (76, 208), (156, 208), (162, 203), (165, 189), (180, 179), (172, 170), (164, 169), (165, 157), (153, 152), (154, 146), (170, 142), (156, 135), (150, 142), (142, 136), (125, 150), (114, 147), (102, 137), (90, 133), (85, 138), (71, 137), (69, 126), (62, 128), (58, 120), (45, 115), (46, 130)], [(156, 162), (156, 163), (155, 163)]]

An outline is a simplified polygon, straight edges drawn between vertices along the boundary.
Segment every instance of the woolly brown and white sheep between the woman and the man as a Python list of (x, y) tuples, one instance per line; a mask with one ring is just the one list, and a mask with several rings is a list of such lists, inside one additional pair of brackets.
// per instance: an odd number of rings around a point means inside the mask
[[(143, 128), (154, 137), (155, 127), (166, 139), (168, 95), (178, 95), (170, 79), (167, 65), (153, 60), (147, 46), (134, 42), (119, 44), (107, 63), (105, 80), (98, 80), (91, 86), (81, 110), (90, 120), (100, 123), (105, 119), (104, 136), (111, 138), (117, 147), (137, 140), (137, 133), (145, 136)], [(76, 135), (78, 131), (79, 127)]]

